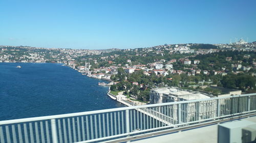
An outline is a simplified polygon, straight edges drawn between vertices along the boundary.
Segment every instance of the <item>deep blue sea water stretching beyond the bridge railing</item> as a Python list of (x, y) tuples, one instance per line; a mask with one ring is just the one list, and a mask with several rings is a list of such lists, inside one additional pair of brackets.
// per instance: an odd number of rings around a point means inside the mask
[(124, 106), (98, 82), (60, 64), (0, 63), (0, 121)]

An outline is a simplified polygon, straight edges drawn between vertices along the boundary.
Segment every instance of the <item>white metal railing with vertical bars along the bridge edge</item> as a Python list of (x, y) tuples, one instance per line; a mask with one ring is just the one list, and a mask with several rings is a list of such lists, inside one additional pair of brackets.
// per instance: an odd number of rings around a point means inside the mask
[(0, 121), (0, 142), (99, 142), (256, 112), (256, 94)]

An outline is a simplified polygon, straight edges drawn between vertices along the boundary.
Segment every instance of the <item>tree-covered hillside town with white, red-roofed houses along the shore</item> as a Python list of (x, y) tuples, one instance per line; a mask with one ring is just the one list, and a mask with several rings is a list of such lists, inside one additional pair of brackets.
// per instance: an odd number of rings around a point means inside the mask
[(212, 96), (230, 90), (254, 93), (255, 53), (256, 42), (243, 39), (229, 44), (164, 44), (107, 50), (0, 46), (0, 62), (65, 64), (83, 75), (110, 80), (112, 95), (148, 102), (152, 89), (164, 87)]

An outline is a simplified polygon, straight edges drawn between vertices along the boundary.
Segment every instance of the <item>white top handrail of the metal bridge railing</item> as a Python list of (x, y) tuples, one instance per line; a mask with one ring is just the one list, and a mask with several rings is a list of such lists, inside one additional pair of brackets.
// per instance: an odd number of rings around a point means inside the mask
[(68, 118), (68, 117), (84, 116), (84, 115), (93, 115), (96, 113), (130, 110), (130, 109), (138, 109), (138, 108), (157, 107), (157, 106), (166, 106), (166, 105), (183, 104), (183, 103), (195, 103), (195, 102), (203, 102), (203, 101), (218, 100), (218, 99), (225, 99), (225, 98), (247, 97), (247, 96), (253, 96), (253, 95), (256, 95), (256, 93), (226, 96), (226, 97), (214, 97), (214, 98), (208, 98), (208, 99), (198, 99), (198, 100), (167, 102), (167, 103), (148, 104), (148, 105), (139, 105), (139, 106), (130, 106), (130, 107), (120, 107), (120, 108), (102, 109), (102, 110), (94, 110), (94, 111), (84, 111), (84, 112), (67, 113), (67, 114), (53, 115), (53, 116), (42, 116), (42, 117), (33, 117), (33, 118), (5, 120), (5, 121), (0, 121), (0, 125), (31, 122), (31, 121), (40, 121), (40, 120), (51, 120), (51, 119), (58, 119), (58, 118)]

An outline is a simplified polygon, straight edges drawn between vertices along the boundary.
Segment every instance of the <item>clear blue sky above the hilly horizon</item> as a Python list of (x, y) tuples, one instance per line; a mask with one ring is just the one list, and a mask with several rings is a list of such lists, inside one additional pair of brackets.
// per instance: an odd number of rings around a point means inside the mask
[(255, 0), (2, 0), (0, 6), (0, 45), (104, 49), (256, 41)]

